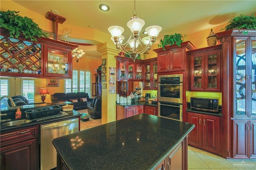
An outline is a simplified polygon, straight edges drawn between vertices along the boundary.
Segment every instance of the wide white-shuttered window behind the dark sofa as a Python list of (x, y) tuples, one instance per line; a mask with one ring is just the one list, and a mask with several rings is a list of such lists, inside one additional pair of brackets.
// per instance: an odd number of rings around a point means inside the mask
[(73, 70), (73, 79), (65, 80), (65, 93), (69, 92), (85, 92), (91, 96), (91, 72)]

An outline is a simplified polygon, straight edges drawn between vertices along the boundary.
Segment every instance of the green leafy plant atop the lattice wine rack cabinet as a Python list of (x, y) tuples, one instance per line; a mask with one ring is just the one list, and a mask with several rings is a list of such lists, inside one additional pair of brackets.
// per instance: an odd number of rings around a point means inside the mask
[(18, 13), (19, 11), (0, 11), (0, 27), (8, 30), (11, 38), (18, 39), (23, 34), (26, 39), (36, 41), (37, 38), (49, 36), (32, 19), (22, 17)]

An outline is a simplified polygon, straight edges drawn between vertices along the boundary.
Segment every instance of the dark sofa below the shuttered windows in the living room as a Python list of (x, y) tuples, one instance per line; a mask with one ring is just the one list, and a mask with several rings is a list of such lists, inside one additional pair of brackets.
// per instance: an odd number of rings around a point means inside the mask
[(77, 92), (77, 93), (54, 93), (51, 95), (52, 102), (64, 102), (70, 101), (74, 105), (74, 110), (87, 109), (87, 102), (93, 101), (89, 97), (88, 93)]

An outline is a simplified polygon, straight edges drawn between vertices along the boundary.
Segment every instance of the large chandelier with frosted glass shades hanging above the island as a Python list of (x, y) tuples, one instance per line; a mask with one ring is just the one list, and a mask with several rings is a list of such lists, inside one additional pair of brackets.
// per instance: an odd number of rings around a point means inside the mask
[[(110, 26), (108, 28), (108, 31), (112, 36), (111, 40), (116, 44), (116, 49), (128, 54), (134, 62), (135, 59), (140, 56), (140, 54), (148, 53), (148, 51), (151, 49), (151, 45), (156, 42), (156, 37), (162, 30), (162, 27), (160, 26), (149, 26), (145, 29), (145, 31), (148, 33), (148, 36), (141, 39), (140, 31), (145, 25), (145, 22), (137, 16), (135, 6), (136, 4), (134, 0), (134, 12), (132, 13), (133, 16), (127, 22), (127, 26), (130, 28), (132, 34), (128, 38), (127, 42), (123, 43), (124, 36), (122, 36), (122, 33), (124, 32), (124, 28), (120, 26)], [(128, 47), (128, 45), (130, 47)], [(140, 49), (138, 49), (139, 45), (141, 47)]]

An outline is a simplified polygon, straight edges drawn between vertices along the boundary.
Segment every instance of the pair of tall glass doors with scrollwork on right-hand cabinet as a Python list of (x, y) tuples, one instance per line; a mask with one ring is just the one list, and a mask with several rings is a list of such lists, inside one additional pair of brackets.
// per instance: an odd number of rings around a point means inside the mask
[(234, 117), (256, 118), (256, 39), (235, 38)]

